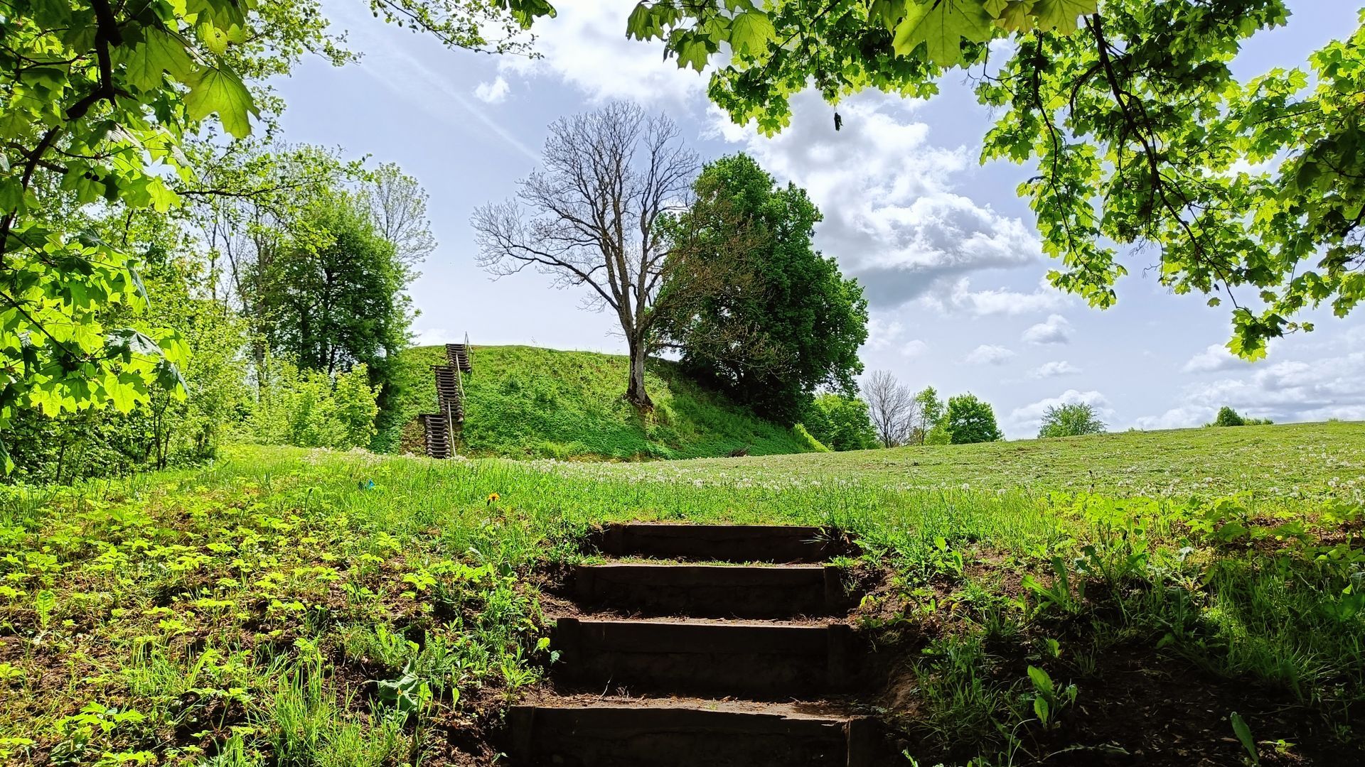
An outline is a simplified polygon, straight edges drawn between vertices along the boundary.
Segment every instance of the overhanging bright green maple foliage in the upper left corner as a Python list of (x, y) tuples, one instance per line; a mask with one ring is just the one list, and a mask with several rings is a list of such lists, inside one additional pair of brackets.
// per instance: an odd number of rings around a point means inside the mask
[[(446, 45), (497, 52), (527, 50), (516, 33), (553, 14), (545, 0), (370, 5)], [(213, 135), (206, 119), (243, 138), (280, 108), (253, 81), (303, 53), (348, 53), (315, 0), (14, 0), (0, 26), (0, 434), (16, 408), (130, 412), (154, 389), (183, 394), (182, 338), (102, 318), (116, 304), (146, 310), (136, 255), (66, 213), (167, 212), (182, 190), (214, 191), (194, 188), (184, 151)]]

